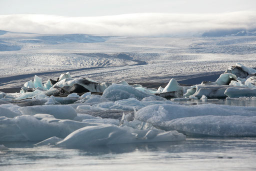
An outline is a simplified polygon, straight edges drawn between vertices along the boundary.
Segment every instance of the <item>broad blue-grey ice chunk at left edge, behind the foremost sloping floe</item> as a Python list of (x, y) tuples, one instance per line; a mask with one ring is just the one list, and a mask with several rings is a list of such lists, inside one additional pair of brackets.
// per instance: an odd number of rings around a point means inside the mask
[(60, 120), (48, 114), (0, 117), (0, 141), (44, 140), (52, 136), (64, 138), (89, 124), (74, 120)]

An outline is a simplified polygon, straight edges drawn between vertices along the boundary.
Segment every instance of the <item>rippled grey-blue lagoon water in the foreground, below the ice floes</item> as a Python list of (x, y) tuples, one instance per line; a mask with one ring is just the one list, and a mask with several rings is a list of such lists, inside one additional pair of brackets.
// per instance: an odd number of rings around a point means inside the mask
[(187, 137), (89, 149), (3, 142), (0, 170), (255, 170), (256, 138)]

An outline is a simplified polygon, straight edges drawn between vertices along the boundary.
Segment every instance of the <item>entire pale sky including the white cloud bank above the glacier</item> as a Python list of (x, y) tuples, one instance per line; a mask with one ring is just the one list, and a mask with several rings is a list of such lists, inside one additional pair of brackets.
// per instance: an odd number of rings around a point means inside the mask
[(256, 0), (0, 0), (0, 29), (17, 32), (194, 35), (255, 20)]

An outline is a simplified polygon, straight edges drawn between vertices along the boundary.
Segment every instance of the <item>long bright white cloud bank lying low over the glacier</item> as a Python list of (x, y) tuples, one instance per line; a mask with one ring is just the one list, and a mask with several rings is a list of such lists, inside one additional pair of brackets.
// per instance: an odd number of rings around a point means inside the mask
[(192, 36), (214, 29), (256, 28), (256, 12), (218, 14), (132, 13), (93, 17), (0, 15), (0, 29), (36, 33), (128, 36)]

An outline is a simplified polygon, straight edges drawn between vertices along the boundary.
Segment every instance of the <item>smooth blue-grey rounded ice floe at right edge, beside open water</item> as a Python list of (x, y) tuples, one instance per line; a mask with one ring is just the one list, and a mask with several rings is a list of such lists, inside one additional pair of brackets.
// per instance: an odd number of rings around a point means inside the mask
[(187, 135), (256, 136), (256, 116), (195, 116), (174, 119), (168, 126)]

